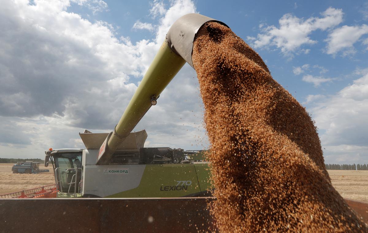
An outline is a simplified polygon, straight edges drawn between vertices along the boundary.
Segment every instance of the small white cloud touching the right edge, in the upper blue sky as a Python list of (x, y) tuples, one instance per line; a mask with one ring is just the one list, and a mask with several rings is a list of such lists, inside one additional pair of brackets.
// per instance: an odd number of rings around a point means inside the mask
[(328, 44), (326, 53), (336, 55), (339, 51), (343, 51), (343, 55), (351, 55), (355, 53), (353, 45), (364, 34), (368, 34), (368, 26), (363, 24), (361, 26), (347, 26), (344, 25), (336, 28), (325, 40)]

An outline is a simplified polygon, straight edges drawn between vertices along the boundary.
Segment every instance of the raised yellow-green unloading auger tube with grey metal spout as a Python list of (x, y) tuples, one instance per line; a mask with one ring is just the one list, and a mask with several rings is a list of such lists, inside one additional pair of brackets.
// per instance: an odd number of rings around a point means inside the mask
[(160, 93), (179, 72), (185, 62), (194, 68), (192, 50), (195, 34), (206, 22), (221, 21), (200, 14), (186, 14), (171, 26), (166, 39), (149, 66), (141, 83), (131, 98), (123, 116), (102, 143), (96, 165), (109, 164), (113, 153), (134, 129), (152, 105), (156, 105)]

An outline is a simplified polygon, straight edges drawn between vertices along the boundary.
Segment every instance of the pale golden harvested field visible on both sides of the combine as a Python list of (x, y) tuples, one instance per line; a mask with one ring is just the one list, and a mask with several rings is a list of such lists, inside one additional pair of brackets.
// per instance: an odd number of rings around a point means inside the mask
[[(49, 173), (13, 174), (12, 163), (0, 163), (0, 194), (54, 184), (52, 166)], [(343, 198), (368, 202), (368, 171), (328, 170), (333, 187)]]

